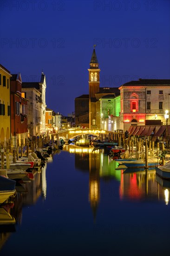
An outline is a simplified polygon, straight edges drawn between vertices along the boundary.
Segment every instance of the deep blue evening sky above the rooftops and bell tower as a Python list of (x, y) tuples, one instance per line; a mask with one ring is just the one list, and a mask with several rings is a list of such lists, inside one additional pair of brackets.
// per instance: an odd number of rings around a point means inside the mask
[(46, 104), (67, 115), (88, 94), (96, 44), (100, 87), (170, 79), (169, 0), (0, 2), (0, 63), (23, 81), (46, 74)]

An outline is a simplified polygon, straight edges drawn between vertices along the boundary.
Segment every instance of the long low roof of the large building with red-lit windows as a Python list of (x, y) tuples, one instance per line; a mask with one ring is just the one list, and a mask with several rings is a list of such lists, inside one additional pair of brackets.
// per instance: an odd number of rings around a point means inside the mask
[(170, 86), (170, 79), (139, 79), (138, 81), (127, 82), (127, 83), (123, 84), (122, 86), (126, 86), (126, 85), (135, 85), (135, 86), (167, 85), (167, 86)]

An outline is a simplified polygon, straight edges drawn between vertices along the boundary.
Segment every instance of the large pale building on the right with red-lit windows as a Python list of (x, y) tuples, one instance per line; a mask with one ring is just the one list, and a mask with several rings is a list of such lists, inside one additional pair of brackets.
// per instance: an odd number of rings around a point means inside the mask
[(166, 124), (164, 110), (170, 109), (169, 79), (139, 79), (120, 86), (122, 129), (145, 125), (147, 120)]

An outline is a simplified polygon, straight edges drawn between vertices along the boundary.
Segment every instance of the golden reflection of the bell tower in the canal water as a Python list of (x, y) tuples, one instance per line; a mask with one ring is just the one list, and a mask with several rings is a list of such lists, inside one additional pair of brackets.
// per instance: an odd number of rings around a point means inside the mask
[[(94, 166), (93, 166), (94, 165)], [(99, 176), (98, 162), (93, 161), (92, 154), (89, 155), (89, 201), (93, 211), (94, 222), (96, 220), (96, 213), (98, 203), (100, 200), (100, 176)]]

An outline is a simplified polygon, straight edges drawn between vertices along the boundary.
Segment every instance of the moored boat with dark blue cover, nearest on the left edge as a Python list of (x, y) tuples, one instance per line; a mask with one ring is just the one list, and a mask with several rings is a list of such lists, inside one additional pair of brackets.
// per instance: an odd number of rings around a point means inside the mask
[(15, 184), (16, 181), (0, 176), (0, 204), (16, 195)]

